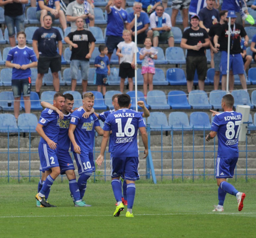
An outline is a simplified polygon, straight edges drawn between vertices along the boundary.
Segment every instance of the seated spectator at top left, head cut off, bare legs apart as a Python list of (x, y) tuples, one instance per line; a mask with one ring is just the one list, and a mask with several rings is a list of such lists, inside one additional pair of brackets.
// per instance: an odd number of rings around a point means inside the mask
[(50, 15), (52, 17), (52, 20), (59, 19), (63, 31), (66, 30), (67, 22), (64, 12), (60, 9), (59, 0), (38, 0), (35, 16), (40, 21), (41, 26), (44, 26), (43, 18), (46, 15)]

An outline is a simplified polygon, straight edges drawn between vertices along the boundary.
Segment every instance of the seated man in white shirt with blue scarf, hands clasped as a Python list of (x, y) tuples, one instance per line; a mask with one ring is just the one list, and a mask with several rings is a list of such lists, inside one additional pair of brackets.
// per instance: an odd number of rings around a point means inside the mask
[(153, 46), (157, 47), (159, 40), (168, 40), (169, 47), (174, 47), (171, 19), (169, 14), (164, 12), (163, 5), (157, 5), (156, 12), (151, 13), (149, 20), (153, 30)]

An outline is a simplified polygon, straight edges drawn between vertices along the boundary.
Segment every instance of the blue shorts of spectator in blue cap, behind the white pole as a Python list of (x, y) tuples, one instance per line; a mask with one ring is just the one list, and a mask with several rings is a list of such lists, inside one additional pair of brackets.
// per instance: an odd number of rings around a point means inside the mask
[[(233, 74), (244, 73), (244, 63), (241, 54), (235, 54), (229, 56), (229, 69), (233, 71)], [(221, 52), (221, 65), (220, 71), (222, 75), (227, 75), (227, 52)]]

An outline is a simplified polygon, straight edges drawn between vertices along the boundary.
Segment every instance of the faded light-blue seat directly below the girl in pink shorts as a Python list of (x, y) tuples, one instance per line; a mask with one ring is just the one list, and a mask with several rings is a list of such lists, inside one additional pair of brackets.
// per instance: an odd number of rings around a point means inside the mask
[(151, 107), (151, 109), (170, 109), (170, 106), (166, 101), (165, 93), (160, 90), (153, 90), (148, 92), (147, 104)]

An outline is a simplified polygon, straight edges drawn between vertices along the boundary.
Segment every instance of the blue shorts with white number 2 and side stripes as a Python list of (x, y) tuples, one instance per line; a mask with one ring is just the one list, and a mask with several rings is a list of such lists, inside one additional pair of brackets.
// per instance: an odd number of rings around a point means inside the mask
[(59, 167), (59, 161), (57, 158), (57, 149), (51, 149), (47, 144), (39, 142), (38, 153), (42, 170), (47, 171), (53, 167)]

